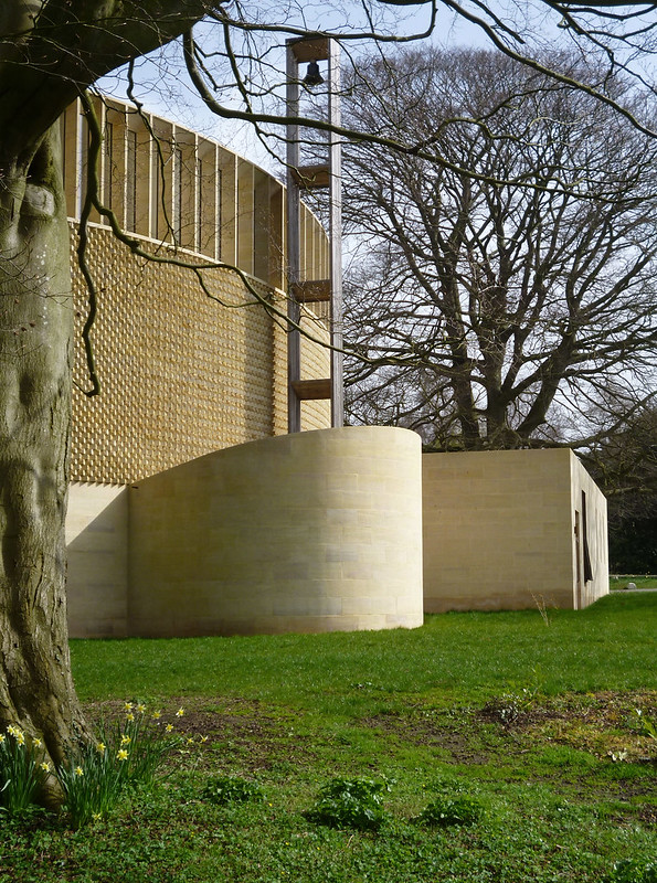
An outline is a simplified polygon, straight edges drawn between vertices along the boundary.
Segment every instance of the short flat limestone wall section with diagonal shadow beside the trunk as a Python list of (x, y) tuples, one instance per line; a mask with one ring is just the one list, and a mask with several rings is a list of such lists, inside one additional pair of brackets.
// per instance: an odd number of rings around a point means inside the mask
[(123, 637), (128, 607), (128, 492), (112, 485), (68, 490), (68, 628), (73, 637)]

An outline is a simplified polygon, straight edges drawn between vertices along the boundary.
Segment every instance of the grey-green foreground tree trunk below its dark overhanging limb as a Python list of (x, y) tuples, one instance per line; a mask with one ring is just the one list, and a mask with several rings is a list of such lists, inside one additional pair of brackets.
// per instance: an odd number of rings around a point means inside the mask
[(73, 308), (61, 168), (59, 125), (29, 156), (0, 146), (0, 725), (40, 735), (55, 764), (84, 733), (65, 597)]

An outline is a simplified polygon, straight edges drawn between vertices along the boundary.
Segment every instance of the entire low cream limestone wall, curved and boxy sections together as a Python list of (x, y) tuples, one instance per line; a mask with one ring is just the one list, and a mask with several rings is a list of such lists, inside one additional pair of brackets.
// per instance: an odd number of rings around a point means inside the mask
[(134, 487), (73, 485), (72, 636), (421, 625), (421, 508), (427, 613), (582, 608), (607, 593), (606, 501), (571, 451), (423, 455), (424, 487), (420, 460), (413, 433), (351, 427)]

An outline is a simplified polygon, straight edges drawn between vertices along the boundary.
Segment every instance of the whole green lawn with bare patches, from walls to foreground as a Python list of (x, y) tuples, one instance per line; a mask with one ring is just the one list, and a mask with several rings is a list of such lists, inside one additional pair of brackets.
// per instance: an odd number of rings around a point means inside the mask
[[(601, 883), (615, 862), (644, 869), (656, 614), (657, 594), (617, 594), (549, 625), (529, 610), (412, 631), (72, 641), (89, 716), (141, 701), (192, 742), (105, 821), (2, 821), (0, 883)], [(263, 799), (213, 802), (218, 774)], [(336, 776), (390, 786), (377, 831), (307, 818)], [(416, 820), (463, 798), (470, 825)]]

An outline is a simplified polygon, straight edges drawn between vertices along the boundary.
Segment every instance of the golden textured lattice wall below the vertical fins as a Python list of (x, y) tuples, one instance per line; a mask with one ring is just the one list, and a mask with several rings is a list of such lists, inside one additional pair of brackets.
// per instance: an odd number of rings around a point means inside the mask
[[(92, 339), (103, 389), (92, 398), (74, 392), (73, 480), (133, 482), (286, 432), (285, 332), (235, 274), (205, 274), (218, 304), (190, 270), (135, 258), (102, 227), (91, 230), (88, 260), (99, 292)], [(73, 251), (72, 263), (75, 381), (84, 390), (80, 330), (87, 295)], [(318, 352), (309, 354), (305, 375), (326, 376), (327, 351), (311, 349)], [(327, 415), (328, 403), (308, 403), (304, 428), (327, 426)]]

